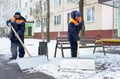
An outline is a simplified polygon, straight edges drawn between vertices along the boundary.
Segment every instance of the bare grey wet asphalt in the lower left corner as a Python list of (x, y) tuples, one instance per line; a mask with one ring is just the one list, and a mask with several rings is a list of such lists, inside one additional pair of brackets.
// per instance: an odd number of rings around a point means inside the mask
[(0, 54), (0, 79), (54, 79), (44, 73), (23, 73), (17, 63), (4, 59), (5, 55)]

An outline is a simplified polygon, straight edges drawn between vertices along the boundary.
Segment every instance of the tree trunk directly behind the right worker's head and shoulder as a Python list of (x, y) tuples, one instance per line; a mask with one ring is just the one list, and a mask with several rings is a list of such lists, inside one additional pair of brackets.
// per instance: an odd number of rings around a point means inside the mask
[(81, 38), (85, 36), (85, 24), (84, 24), (84, 0), (79, 0), (79, 10), (83, 19), (82, 31), (80, 32)]

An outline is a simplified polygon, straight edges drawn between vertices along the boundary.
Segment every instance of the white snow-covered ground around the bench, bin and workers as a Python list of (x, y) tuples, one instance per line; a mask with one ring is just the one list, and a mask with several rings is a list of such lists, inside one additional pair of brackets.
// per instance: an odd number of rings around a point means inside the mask
[[(25, 39), (25, 45), (32, 56), (38, 55), (39, 42), (40, 40), (38, 39)], [(36, 68), (27, 70), (26, 72), (44, 72), (48, 75), (52, 75), (56, 79), (120, 79), (120, 55), (107, 53), (107, 56), (104, 56), (104, 54), (100, 52), (102, 48), (97, 48), (97, 52), (95, 54), (92, 54), (93, 48), (80, 49), (80, 58), (90, 58), (95, 60), (95, 73), (90, 73), (89, 71), (83, 72), (79, 68), (63, 72), (60, 70), (60, 65), (64, 58), (61, 57), (62, 55), (60, 49), (57, 51), (57, 57), (54, 58), (55, 43), (55, 40), (51, 40), (48, 43), (48, 56), (50, 59), (49, 63), (39, 65)], [(120, 52), (119, 47), (106, 48), (105, 50), (109, 51), (109, 49), (118, 50), (118, 52)], [(113, 53), (116, 52), (113, 51)], [(5, 59), (10, 57), (10, 41), (8, 38), (0, 39), (0, 54), (6, 54), (5, 57), (3, 57)], [(71, 57), (69, 49), (64, 50), (64, 54), (65, 58)], [(25, 56), (28, 57), (27, 54)], [(17, 62), (11, 61), (9, 63)], [(64, 65), (67, 66), (66, 63), (64, 63)], [(73, 64), (73, 66), (76, 66), (76, 64)]]

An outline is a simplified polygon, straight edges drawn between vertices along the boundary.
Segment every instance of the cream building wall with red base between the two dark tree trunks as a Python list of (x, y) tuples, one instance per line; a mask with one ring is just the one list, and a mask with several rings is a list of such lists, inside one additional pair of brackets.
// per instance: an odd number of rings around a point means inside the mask
[(73, 0), (50, 0), (50, 37), (55, 39), (67, 35), (70, 13), (78, 10), (78, 4)]

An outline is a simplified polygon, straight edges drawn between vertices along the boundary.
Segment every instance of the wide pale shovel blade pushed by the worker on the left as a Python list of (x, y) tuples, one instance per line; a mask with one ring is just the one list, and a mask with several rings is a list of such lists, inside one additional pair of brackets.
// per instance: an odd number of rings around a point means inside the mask
[(46, 56), (34, 56), (17, 59), (17, 63), (21, 70), (35, 68), (39, 65), (47, 64), (49, 61)]

